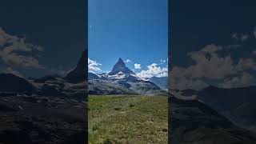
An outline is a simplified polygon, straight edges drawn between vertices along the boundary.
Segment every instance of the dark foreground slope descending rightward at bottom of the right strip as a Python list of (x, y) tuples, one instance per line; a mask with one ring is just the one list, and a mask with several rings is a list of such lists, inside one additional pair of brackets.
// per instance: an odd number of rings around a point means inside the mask
[(172, 144), (254, 144), (255, 134), (235, 126), (198, 100), (169, 98)]

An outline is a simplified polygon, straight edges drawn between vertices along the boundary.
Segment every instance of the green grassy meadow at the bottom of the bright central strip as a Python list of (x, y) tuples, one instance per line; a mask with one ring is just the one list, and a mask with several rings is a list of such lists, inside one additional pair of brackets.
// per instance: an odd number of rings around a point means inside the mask
[(89, 143), (167, 143), (166, 96), (90, 95)]

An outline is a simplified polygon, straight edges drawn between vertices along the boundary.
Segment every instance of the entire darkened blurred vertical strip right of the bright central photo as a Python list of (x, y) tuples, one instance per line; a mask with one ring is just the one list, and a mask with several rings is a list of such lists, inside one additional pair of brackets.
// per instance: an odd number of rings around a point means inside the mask
[(256, 2), (168, 5), (169, 143), (256, 143)]

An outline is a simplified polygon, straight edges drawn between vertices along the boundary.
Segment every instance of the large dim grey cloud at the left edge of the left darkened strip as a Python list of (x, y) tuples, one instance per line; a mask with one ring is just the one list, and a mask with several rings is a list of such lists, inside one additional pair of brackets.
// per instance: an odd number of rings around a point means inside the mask
[(42, 69), (44, 66), (40, 65), (38, 59), (31, 53), (32, 51), (42, 50), (41, 46), (27, 43), (26, 38), (18, 38), (17, 36), (7, 34), (6, 31), (0, 28), (0, 58), (7, 65)]

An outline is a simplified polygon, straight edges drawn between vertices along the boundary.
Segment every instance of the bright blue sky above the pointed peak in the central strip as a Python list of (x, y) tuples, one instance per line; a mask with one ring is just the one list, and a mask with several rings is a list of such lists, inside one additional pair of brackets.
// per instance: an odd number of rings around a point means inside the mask
[(131, 70), (140, 64), (137, 73), (153, 63), (167, 67), (167, 0), (89, 0), (88, 26), (89, 58), (101, 64), (95, 73), (111, 70), (118, 58), (129, 59)]

